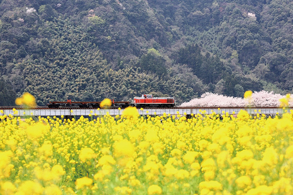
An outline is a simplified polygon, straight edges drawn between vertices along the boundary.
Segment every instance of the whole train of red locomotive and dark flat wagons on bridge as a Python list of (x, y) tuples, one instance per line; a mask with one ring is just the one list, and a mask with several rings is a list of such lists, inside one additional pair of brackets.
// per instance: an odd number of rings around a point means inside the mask
[[(50, 101), (47, 106), (49, 108), (101, 108), (101, 101)], [(137, 108), (171, 108), (176, 106), (174, 98), (154, 98), (152, 95), (142, 95), (142, 97), (133, 98), (133, 102), (129, 101), (114, 101), (111, 100), (110, 108), (126, 108), (128, 106), (135, 106)]]

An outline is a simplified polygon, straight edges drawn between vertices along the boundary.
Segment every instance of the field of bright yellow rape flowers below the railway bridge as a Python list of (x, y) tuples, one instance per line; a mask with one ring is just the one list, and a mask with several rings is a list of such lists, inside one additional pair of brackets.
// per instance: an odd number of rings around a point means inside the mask
[(0, 116), (1, 195), (293, 194), (293, 114)]

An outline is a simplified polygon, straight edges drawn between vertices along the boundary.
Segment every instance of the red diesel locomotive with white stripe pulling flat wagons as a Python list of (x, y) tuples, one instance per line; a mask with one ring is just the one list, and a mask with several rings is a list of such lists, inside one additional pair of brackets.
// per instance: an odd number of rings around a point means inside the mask
[(133, 99), (133, 104), (138, 108), (176, 106), (174, 98), (153, 98), (152, 95), (142, 95), (142, 97), (135, 97)]

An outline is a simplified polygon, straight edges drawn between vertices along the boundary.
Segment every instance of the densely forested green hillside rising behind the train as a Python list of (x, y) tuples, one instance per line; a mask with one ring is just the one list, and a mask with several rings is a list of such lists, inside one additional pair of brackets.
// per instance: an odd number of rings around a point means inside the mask
[(293, 89), (291, 0), (0, 0), (0, 106)]

